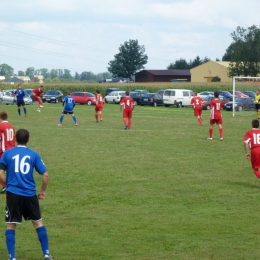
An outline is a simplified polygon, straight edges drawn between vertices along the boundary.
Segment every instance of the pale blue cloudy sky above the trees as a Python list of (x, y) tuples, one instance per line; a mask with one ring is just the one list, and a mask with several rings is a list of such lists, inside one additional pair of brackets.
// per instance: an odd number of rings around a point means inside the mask
[(107, 71), (130, 39), (146, 69), (221, 59), (237, 26), (259, 26), (259, 0), (1, 0), (0, 64), (18, 70)]

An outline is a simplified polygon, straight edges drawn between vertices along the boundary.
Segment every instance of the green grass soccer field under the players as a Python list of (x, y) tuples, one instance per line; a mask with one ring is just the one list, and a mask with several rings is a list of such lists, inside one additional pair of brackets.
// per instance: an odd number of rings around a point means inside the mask
[[(137, 106), (124, 130), (119, 105), (77, 105), (58, 127), (61, 104), (1, 105), (28, 146), (42, 156), (50, 182), (41, 201), (50, 251), (59, 260), (259, 259), (260, 183), (245, 159), (243, 136), (254, 111), (223, 111), (224, 141), (209, 111), (200, 126), (191, 108)], [(40, 187), (40, 176), (35, 175)], [(0, 259), (5, 196), (0, 195)], [(17, 260), (41, 259), (32, 224), (16, 231)]]

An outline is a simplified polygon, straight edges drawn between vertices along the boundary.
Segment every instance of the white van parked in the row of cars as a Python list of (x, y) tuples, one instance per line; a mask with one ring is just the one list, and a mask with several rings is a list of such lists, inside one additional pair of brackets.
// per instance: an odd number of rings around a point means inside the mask
[(188, 89), (166, 89), (163, 94), (164, 106), (190, 106), (193, 91)]

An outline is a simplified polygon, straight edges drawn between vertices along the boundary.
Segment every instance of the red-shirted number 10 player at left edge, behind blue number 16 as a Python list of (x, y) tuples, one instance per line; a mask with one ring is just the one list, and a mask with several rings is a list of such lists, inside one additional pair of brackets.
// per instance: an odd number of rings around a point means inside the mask
[[(2, 122), (0, 123), (0, 158), (2, 158), (2, 155), (5, 150), (15, 147), (15, 129), (7, 121), (7, 111), (2, 110), (0, 112), (0, 119), (2, 120)], [(5, 184), (1, 181), (0, 184), (2, 185), (1, 193), (5, 193)]]

